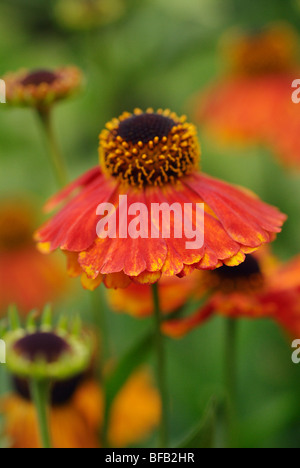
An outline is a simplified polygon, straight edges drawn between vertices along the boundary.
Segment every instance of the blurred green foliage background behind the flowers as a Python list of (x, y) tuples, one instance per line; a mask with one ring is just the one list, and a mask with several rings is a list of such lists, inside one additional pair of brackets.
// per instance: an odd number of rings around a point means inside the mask
[[(193, 96), (224, 71), (218, 43), (228, 28), (256, 28), (274, 20), (300, 28), (300, 5), (294, 0), (120, 2), (122, 15), (91, 30), (65, 27), (55, 1), (0, 2), (0, 75), (22, 67), (68, 64), (84, 71), (84, 92), (55, 109), (55, 127), (72, 178), (97, 164), (98, 134), (124, 110), (162, 107), (189, 115)], [(56, 184), (35, 120), (31, 110), (1, 105), (0, 195), (27, 194), (42, 212)], [(274, 248), (282, 259), (299, 253), (299, 174), (285, 172), (262, 148), (237, 154), (236, 149), (217, 149), (204, 135), (201, 142), (205, 172), (249, 187), (288, 213)], [(88, 316), (89, 296), (78, 284), (60, 308)], [(152, 326), (151, 321), (113, 313), (107, 314), (107, 322), (115, 357)], [(223, 325), (217, 318), (183, 340), (168, 341), (173, 442), (201, 419), (210, 396), (222, 393)], [(300, 365), (292, 364), (291, 352), (290, 341), (275, 324), (240, 322), (242, 447), (300, 446)], [(4, 392), (4, 366), (0, 379)]]

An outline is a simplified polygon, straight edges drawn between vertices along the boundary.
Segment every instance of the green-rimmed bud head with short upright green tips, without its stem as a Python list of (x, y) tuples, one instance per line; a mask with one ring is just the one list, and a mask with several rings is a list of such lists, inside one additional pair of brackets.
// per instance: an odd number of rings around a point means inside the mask
[(4, 334), (7, 367), (22, 378), (64, 380), (86, 370), (93, 350), (92, 337), (80, 327), (52, 324), (51, 309), (46, 307), (40, 324), (29, 316), (26, 327), (11, 310), (11, 329)]

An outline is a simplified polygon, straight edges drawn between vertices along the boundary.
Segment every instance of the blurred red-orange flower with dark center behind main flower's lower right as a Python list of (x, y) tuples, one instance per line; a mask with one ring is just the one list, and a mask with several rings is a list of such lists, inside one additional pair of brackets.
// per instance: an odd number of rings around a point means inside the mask
[(188, 318), (166, 321), (165, 333), (181, 337), (213, 314), (230, 318), (271, 318), (292, 335), (300, 333), (300, 257), (286, 264), (267, 249), (248, 255), (237, 267), (203, 273), (200, 296), (211, 298)]

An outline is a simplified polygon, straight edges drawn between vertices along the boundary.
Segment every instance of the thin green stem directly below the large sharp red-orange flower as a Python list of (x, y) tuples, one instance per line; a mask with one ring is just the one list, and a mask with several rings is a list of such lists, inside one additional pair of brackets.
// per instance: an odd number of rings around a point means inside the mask
[(157, 383), (162, 403), (162, 416), (160, 423), (160, 447), (168, 447), (168, 392), (166, 385), (166, 359), (164, 349), (164, 337), (161, 332), (162, 314), (159, 304), (159, 292), (157, 284), (152, 286), (155, 318), (156, 353), (157, 353)]

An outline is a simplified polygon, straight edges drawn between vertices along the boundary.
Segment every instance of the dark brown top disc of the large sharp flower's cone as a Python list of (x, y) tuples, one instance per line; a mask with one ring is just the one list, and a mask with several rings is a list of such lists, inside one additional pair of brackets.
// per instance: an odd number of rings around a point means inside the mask
[(149, 143), (155, 137), (167, 137), (175, 125), (174, 120), (159, 114), (133, 115), (120, 123), (117, 135), (134, 145)]

